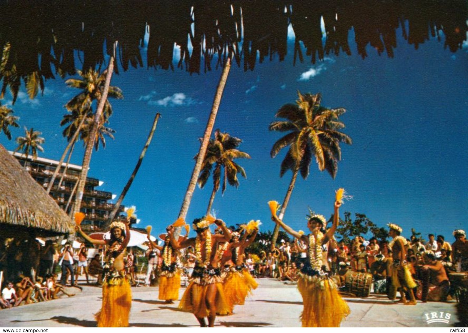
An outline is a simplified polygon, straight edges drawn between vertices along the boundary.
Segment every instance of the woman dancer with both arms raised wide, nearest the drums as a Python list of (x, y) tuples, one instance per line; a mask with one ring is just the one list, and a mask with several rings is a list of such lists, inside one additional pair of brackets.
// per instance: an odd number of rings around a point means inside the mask
[(335, 202), (335, 214), (332, 227), (323, 234), (325, 217), (313, 215), (307, 222), (310, 234), (303, 235), (294, 231), (276, 214), (271, 219), (278, 223), (285, 231), (308, 244), (307, 259), (299, 273), (297, 287), (302, 295), (304, 310), (302, 311), (302, 327), (338, 327), (341, 321), (350, 314), (348, 304), (338, 295), (333, 282), (322, 269), (322, 245), (326, 244), (338, 227), (338, 208), (341, 202)]

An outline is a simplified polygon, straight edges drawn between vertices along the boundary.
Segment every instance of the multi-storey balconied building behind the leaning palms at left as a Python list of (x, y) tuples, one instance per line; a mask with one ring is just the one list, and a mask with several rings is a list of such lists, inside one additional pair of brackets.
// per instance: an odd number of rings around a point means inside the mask
[[(47, 189), (51, 181), (54, 171), (59, 165), (59, 161), (50, 160), (47, 158), (37, 157), (33, 159), (32, 156), (28, 156), (26, 160), (25, 155), (17, 152), (9, 153), (16, 157), (20, 164), (29, 172), (32, 178), (34, 178), (39, 185)], [(50, 195), (57, 202), (60, 208), (70, 213), (73, 207), (75, 194), (76, 194), (76, 183), (81, 173), (82, 167), (76, 164), (68, 164), (65, 175), (66, 163), (62, 164), (62, 168), (54, 181), (54, 185), (51, 188)], [(60, 185), (59, 185), (60, 183)], [(111, 192), (98, 191), (95, 189), (97, 186), (101, 186), (102, 181), (96, 178), (86, 178), (86, 185), (83, 194), (83, 200), (81, 202), (80, 211), (86, 214), (85, 219), (81, 222), (82, 228), (89, 231), (100, 231), (103, 228), (105, 221), (109, 218), (110, 212), (114, 208), (114, 204), (110, 203), (109, 200), (114, 199)], [(72, 200), (70, 196), (72, 195)], [(124, 206), (121, 206), (118, 212), (122, 212)]]

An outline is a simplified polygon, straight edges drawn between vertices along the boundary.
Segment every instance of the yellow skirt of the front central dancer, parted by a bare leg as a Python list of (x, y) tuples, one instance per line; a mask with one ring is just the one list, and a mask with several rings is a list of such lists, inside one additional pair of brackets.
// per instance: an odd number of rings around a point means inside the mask
[[(224, 295), (223, 284), (214, 283), (216, 285), (216, 312), (229, 311), (229, 306)], [(206, 291), (212, 284), (200, 285), (195, 282), (190, 282), (189, 286), (183, 293), (179, 303), (179, 309), (193, 313), (198, 318), (209, 316), (209, 309), (206, 306)]]

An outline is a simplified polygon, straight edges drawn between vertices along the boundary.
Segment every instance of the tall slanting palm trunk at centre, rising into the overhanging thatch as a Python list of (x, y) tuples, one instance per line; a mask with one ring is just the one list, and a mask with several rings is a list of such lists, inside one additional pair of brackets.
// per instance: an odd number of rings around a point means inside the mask
[[(192, 200), (193, 191), (195, 190), (195, 187), (197, 185), (198, 175), (201, 170), (203, 159), (205, 158), (206, 148), (208, 147), (208, 142), (210, 141), (211, 133), (214, 127), (214, 121), (218, 113), (219, 104), (221, 102), (221, 97), (223, 96), (224, 87), (226, 86), (226, 81), (227, 81), (227, 75), (229, 74), (230, 69), (231, 69), (231, 55), (227, 57), (226, 63), (221, 73), (221, 77), (219, 79), (219, 84), (218, 84), (218, 88), (216, 89), (216, 94), (214, 96), (210, 117), (208, 118), (208, 123), (206, 124), (205, 134), (203, 135), (203, 141), (200, 145), (200, 150), (198, 151), (197, 162), (195, 163), (195, 167), (193, 168), (189, 186), (187, 187), (187, 191), (185, 192), (185, 197), (183, 198), (182, 207), (179, 212), (179, 218), (185, 219), (185, 217), (187, 216), (187, 212), (189, 211), (190, 201)], [(180, 234), (181, 230), (182, 230), (182, 227), (176, 228), (175, 237), (177, 237)]]

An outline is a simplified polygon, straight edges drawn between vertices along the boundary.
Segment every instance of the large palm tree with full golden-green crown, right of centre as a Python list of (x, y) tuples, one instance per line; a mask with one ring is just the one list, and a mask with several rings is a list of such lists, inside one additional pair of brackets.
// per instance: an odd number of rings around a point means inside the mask
[[(345, 109), (328, 109), (321, 106), (320, 94), (302, 95), (298, 91), (298, 96), (296, 104), (283, 105), (275, 115), (276, 118), (287, 120), (273, 121), (269, 126), (270, 131), (289, 132), (274, 143), (270, 152), (273, 158), (281, 149), (289, 147), (281, 163), (279, 175), (283, 177), (287, 170), (292, 170), (292, 179), (278, 215), (280, 219), (285, 214), (297, 175), (300, 172), (304, 179), (309, 175), (312, 157), (315, 156), (320, 171), (327, 170), (330, 176), (335, 178), (338, 161), (341, 160), (339, 143), (352, 143), (348, 135), (339, 131), (344, 128), (339, 116), (346, 112)], [(278, 230), (277, 225), (273, 232), (272, 246), (276, 244)]]

